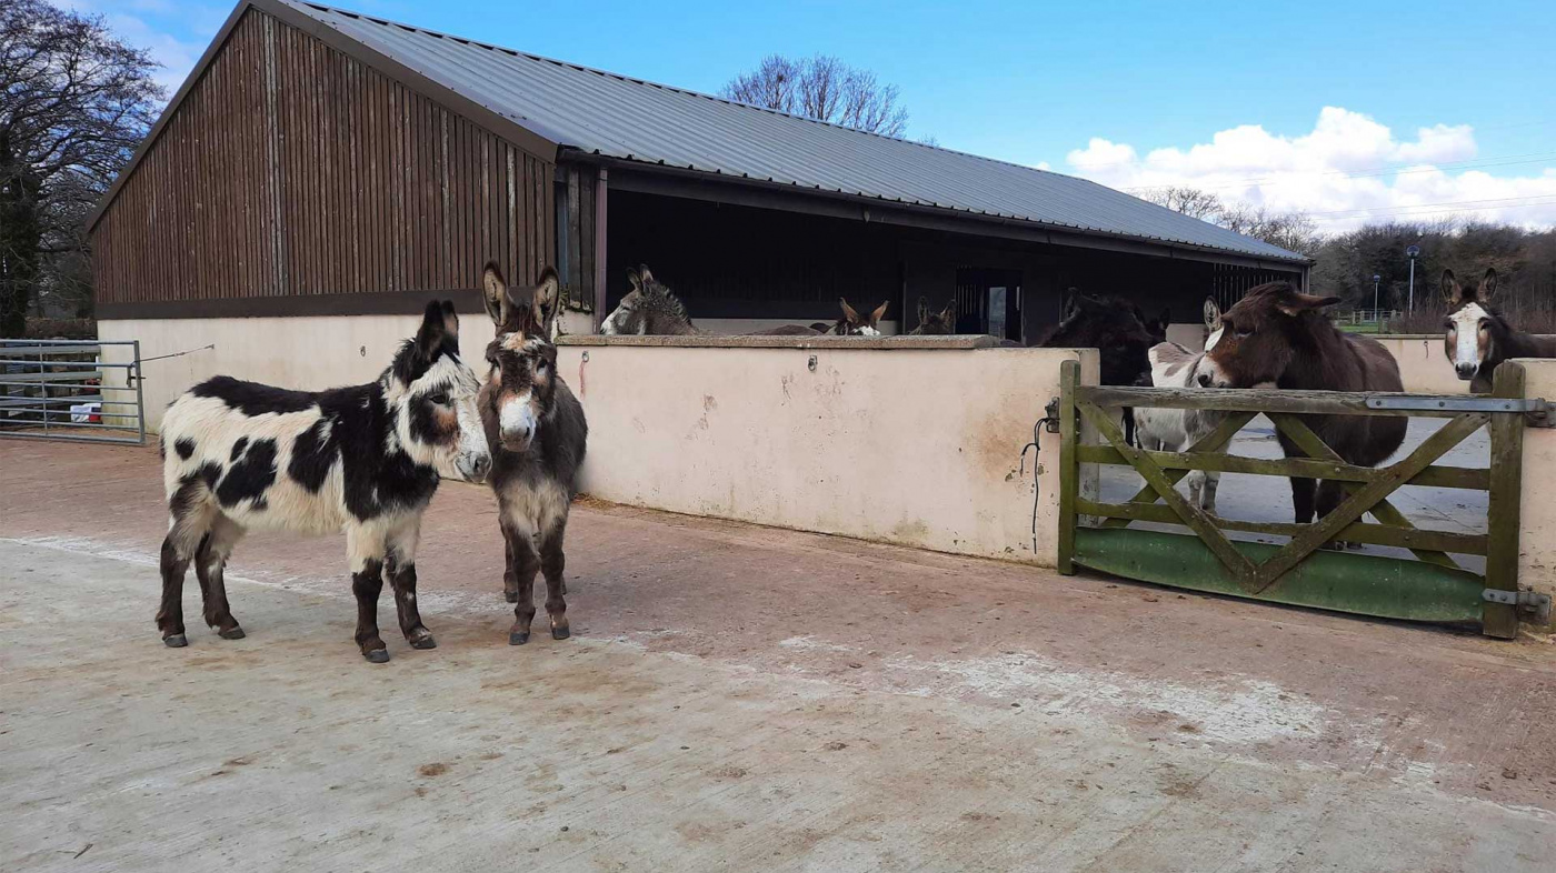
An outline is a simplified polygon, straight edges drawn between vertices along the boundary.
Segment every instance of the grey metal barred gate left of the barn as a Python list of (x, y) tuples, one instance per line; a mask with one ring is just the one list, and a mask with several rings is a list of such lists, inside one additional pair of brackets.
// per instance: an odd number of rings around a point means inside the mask
[(145, 444), (140, 378), (138, 339), (0, 339), (0, 437)]

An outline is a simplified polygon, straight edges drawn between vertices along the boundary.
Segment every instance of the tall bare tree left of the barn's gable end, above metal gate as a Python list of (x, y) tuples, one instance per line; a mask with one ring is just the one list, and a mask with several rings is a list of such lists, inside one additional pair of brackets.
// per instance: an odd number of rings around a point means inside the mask
[(81, 221), (154, 118), (156, 67), (100, 16), (0, 5), (0, 335), (42, 288), (79, 285)]

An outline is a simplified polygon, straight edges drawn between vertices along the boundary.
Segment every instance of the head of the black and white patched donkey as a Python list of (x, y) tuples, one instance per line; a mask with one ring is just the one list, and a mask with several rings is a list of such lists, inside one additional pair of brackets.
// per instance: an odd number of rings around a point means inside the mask
[(492, 451), (476, 405), (481, 381), (459, 359), (459, 316), (451, 300), (426, 305), (415, 338), (400, 345), (380, 383), (395, 439), (414, 462), (448, 479), (485, 481)]

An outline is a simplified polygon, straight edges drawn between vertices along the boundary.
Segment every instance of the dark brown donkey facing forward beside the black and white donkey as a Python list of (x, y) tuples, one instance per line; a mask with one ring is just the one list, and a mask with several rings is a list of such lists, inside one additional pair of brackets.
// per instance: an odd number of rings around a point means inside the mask
[(546, 574), (551, 636), (566, 640), (568, 588), (562, 580), (562, 540), (584, 464), (588, 422), (584, 406), (557, 373), (551, 321), (557, 314), (557, 271), (549, 266), (534, 288), (509, 288), (495, 263), (481, 277), (496, 339), (487, 345), (492, 370), (481, 387), (481, 423), (492, 447), (492, 490), (507, 543), (503, 591), (513, 607), (510, 646), (529, 641), (535, 618), (535, 571)]

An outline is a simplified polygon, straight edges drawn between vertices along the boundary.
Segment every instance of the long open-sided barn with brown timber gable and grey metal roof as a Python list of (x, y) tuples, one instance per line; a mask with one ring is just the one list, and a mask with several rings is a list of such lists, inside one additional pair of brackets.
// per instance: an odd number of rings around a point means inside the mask
[(479, 313), (487, 258), (555, 266), (571, 333), (647, 263), (713, 331), (839, 297), (906, 331), (926, 297), (1018, 342), (1071, 286), (1192, 322), (1309, 266), (1083, 179), (296, 0), (238, 3), (90, 227), (104, 339), (303, 386), (370, 377), (429, 294)]

